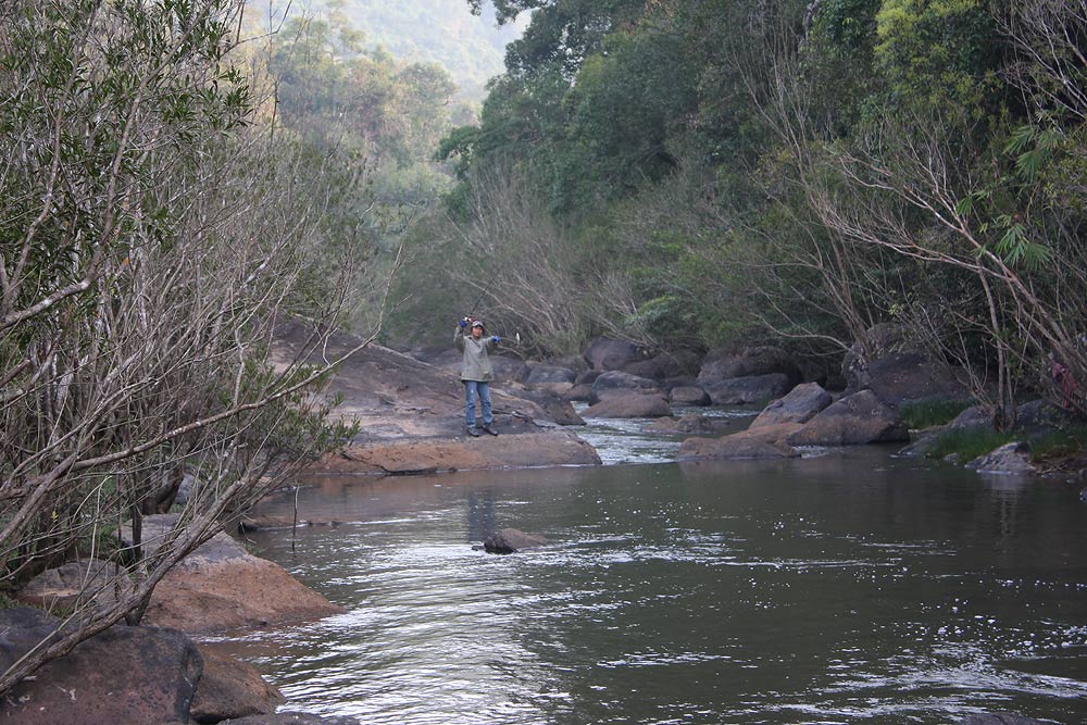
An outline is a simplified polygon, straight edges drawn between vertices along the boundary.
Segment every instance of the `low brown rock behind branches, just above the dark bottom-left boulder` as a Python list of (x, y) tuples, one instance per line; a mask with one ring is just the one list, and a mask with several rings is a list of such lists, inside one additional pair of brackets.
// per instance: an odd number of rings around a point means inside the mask
[(90, 559), (42, 572), (15, 598), (47, 610), (71, 610), (85, 601), (93, 601), (96, 609), (105, 609), (117, 602), (118, 591), (127, 596), (132, 588), (132, 580), (123, 568), (112, 562)]

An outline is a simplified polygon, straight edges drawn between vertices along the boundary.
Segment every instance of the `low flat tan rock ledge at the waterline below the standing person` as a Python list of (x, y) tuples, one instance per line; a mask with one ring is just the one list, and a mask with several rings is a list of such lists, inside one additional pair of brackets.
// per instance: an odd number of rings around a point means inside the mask
[(479, 438), (423, 438), (355, 443), (326, 455), (312, 468), (328, 473), (413, 475), (485, 468), (600, 465), (587, 442), (565, 430), (487, 435)]

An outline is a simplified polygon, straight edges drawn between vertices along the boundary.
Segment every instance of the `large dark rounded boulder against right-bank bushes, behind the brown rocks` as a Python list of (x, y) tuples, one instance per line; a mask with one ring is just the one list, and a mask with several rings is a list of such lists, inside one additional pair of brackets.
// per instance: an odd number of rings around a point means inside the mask
[(847, 395), (870, 389), (894, 408), (970, 397), (952, 370), (913, 346), (898, 325), (876, 325), (867, 337), (867, 354), (860, 345), (854, 345), (842, 360)]

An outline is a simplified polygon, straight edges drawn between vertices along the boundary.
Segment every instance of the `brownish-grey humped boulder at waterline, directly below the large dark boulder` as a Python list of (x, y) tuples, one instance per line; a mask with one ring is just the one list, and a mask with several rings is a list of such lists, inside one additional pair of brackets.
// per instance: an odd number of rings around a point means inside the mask
[(830, 404), (786, 438), (790, 446), (861, 446), (909, 440), (910, 432), (894, 410), (871, 390)]

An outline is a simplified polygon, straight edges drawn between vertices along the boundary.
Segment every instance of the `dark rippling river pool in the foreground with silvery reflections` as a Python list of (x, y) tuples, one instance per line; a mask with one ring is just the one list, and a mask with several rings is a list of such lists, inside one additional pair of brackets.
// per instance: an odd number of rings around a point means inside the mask
[[(299, 490), (258, 554), (347, 608), (227, 637), (370, 724), (1087, 723), (1087, 505), (858, 448)], [(290, 515), (292, 500), (264, 513)], [(552, 539), (472, 548), (512, 526)]]

